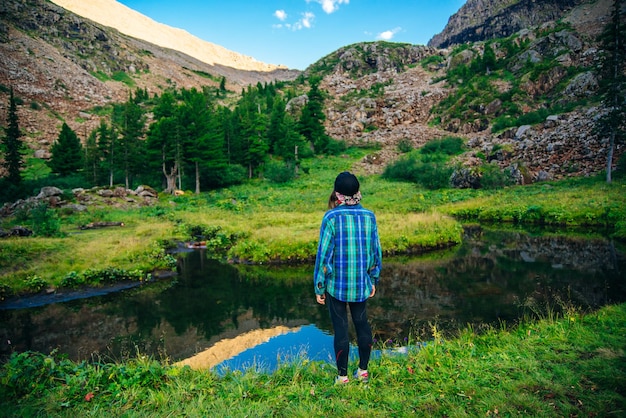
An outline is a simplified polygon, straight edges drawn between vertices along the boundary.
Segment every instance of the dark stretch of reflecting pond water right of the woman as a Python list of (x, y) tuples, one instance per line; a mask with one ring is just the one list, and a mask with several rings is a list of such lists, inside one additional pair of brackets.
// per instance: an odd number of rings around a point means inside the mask
[(369, 308), (379, 339), (423, 340), (435, 324), (480, 330), (626, 300), (625, 259), (607, 240), (473, 232), (448, 259), (387, 260)]

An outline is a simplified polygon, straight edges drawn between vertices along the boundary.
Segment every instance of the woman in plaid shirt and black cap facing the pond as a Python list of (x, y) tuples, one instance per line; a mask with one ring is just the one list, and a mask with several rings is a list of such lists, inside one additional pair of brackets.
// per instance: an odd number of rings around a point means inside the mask
[(347, 171), (335, 179), (336, 202), (331, 196), (331, 208), (322, 219), (315, 259), (315, 297), (319, 304), (328, 305), (335, 331), (338, 384), (349, 382), (348, 307), (359, 348), (359, 367), (354, 377), (361, 382), (369, 380), (372, 330), (367, 319), (367, 299), (376, 293), (382, 268), (376, 217), (361, 206), (359, 188), (356, 176)]

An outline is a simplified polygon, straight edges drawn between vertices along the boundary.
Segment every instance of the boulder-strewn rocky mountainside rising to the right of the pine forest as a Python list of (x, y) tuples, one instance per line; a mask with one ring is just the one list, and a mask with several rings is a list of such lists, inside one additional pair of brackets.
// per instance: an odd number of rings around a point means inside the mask
[[(472, 4), (475, 9), (471, 9)], [(463, 10), (466, 13), (471, 10), (483, 16), (484, 22), (490, 22), (487, 17), (494, 11), (494, 15), (501, 15), (504, 19), (506, 13), (500, 7), (504, 4), (506, 2), (502, 1), (468, 2), (458, 16), (463, 16)], [(542, 3), (539, 10), (530, 13), (544, 16), (533, 20), (538, 25), (524, 27), (512, 34), (513, 44), (524, 45), (516, 56), (507, 56), (503, 42), (494, 44), (496, 55), (511, 62), (509, 71), (517, 80), (515, 83), (504, 79), (490, 81), (493, 84), (490, 88), (500, 94), (511, 91), (515, 97), (524, 97), (525, 100), (518, 100), (515, 105), (525, 112), (541, 111), (550, 100), (562, 103), (563, 107), (587, 102), (572, 111), (550, 115), (543, 123), (532, 126), (522, 124), (492, 132), (491, 123), (503, 113), (504, 105), (499, 99), (489, 99), (486, 90), (478, 91), (473, 102), (464, 103), (469, 100), (467, 96), (459, 96), (457, 103), (445, 102), (449, 108), (440, 109), (440, 114), (433, 112), (436, 107), (441, 107), (442, 100), (458, 90), (443, 81), (446, 71), (461, 64), (470, 65), (484, 52), (483, 42), (466, 44), (460, 52), (452, 48), (358, 44), (324, 57), (307, 71), (324, 69), (329, 73), (324, 78), (323, 87), (330, 97), (327, 131), (331, 136), (355, 143), (376, 142), (381, 145), (380, 152), (361, 163), (361, 170), (365, 172), (379, 173), (387, 162), (398, 158), (400, 141), (409, 141), (419, 147), (431, 139), (453, 135), (463, 137), (470, 147), (470, 151), (458, 161), (469, 170), (481, 164), (477, 156), (482, 155), (502, 169), (510, 170), (519, 183), (590, 175), (606, 168), (606, 142), (593, 129), (602, 109), (589, 98), (597, 90), (593, 74), (598, 53), (596, 37), (607, 22), (611, 4), (610, 0), (598, 0), (562, 10), (559, 16), (569, 29), (560, 29), (555, 21), (543, 20), (546, 14)], [(457, 39), (450, 35), (455, 31), (461, 33), (477, 27), (469, 22), (463, 26), (464, 19), (458, 16), (451, 19), (451, 25), (443, 32), (445, 36), (439, 36), (446, 39), (442, 42), (451, 43), (452, 39)], [(459, 31), (461, 28), (465, 29)], [(479, 36), (481, 31), (476, 34)], [(484, 35), (487, 39), (495, 36)], [(397, 50), (401, 48), (412, 52), (398, 60)], [(420, 60), (429, 56), (441, 59), (422, 68)], [(534, 69), (525, 70), (528, 60), (536, 65)], [(389, 62), (403, 65), (390, 65)], [(368, 63), (369, 71), (363, 71)], [(571, 76), (570, 73), (577, 75)], [(514, 93), (516, 91), (519, 92)], [(355, 95), (354, 92), (362, 94)], [(461, 117), (453, 112), (455, 107), (465, 109)], [(440, 123), (432, 123), (435, 117)], [(623, 147), (618, 148), (618, 156), (623, 151)]]

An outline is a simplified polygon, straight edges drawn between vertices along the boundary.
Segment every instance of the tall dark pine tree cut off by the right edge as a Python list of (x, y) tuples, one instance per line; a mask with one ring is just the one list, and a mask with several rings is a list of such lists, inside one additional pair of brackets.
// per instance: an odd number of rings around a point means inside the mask
[(596, 130), (609, 140), (606, 181), (611, 183), (615, 144), (626, 137), (626, 22), (622, 0), (614, 0), (611, 20), (600, 35), (600, 43), (600, 94), (607, 112), (598, 120)]

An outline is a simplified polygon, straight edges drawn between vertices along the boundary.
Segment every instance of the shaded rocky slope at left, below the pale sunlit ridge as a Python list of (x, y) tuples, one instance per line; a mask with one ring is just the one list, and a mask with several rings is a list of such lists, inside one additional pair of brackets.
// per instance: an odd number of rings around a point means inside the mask
[[(84, 139), (100, 123), (97, 109), (124, 102), (146, 89), (219, 86), (241, 88), (290, 80), (299, 71), (242, 70), (130, 37), (46, 0), (0, 3), (0, 118), (6, 120), (9, 88), (22, 102), (20, 127), (31, 152), (45, 157), (63, 121)], [(118, 76), (123, 76), (120, 78)], [(118, 79), (120, 81), (117, 81)]]

